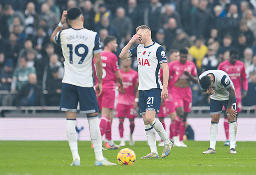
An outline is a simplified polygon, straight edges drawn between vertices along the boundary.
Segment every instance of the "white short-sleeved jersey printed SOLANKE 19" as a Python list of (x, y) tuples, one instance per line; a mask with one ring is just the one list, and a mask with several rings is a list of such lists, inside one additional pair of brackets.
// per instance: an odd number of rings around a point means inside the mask
[(69, 28), (58, 32), (55, 42), (61, 44), (65, 59), (62, 83), (93, 87), (93, 54), (102, 51), (98, 33), (85, 28)]

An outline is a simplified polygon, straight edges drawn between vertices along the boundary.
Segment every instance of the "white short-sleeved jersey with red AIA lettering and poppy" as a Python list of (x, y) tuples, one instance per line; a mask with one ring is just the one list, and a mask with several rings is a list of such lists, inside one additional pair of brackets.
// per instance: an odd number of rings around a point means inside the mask
[(143, 44), (129, 50), (130, 57), (137, 56), (139, 73), (139, 90), (145, 91), (153, 88), (163, 89), (160, 81), (160, 64), (167, 63), (166, 53), (161, 45), (154, 42), (145, 47)]

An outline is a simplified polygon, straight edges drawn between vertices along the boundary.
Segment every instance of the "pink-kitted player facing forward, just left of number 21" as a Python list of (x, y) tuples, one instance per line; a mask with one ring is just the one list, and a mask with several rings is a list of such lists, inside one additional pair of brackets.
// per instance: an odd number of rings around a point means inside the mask
[(122, 60), (121, 62), (121, 76), (124, 84), (124, 91), (118, 94), (116, 114), (119, 118), (119, 134), (121, 137), (120, 146), (125, 146), (124, 136), (124, 119), (127, 117), (130, 120), (130, 146), (135, 144), (132, 134), (135, 128), (134, 119), (137, 117), (136, 107), (139, 102), (139, 79), (138, 72), (130, 68), (131, 58)]

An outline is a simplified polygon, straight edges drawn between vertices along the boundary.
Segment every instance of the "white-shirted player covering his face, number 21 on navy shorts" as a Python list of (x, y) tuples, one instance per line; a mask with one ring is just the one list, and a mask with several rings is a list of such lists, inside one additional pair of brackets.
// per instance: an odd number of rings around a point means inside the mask
[[(140, 44), (129, 50), (137, 39)], [(140, 114), (144, 120), (145, 131), (151, 149), (148, 155), (141, 158), (159, 158), (154, 130), (163, 140), (164, 147), (161, 157), (164, 158), (170, 154), (172, 142), (168, 139), (163, 124), (155, 118), (155, 115), (159, 113), (161, 100), (168, 98), (169, 71), (166, 53), (161, 45), (152, 41), (151, 30), (148, 26), (144, 25), (136, 28), (136, 34), (120, 53), (121, 59), (135, 56), (137, 56), (138, 60)], [(163, 69), (163, 85), (159, 78), (161, 67)]]

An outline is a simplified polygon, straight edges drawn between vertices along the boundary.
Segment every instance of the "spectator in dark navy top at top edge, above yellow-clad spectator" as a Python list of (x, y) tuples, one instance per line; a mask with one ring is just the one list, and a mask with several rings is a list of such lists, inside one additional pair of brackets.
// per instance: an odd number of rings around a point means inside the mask
[(200, 0), (198, 9), (191, 16), (192, 36), (209, 37), (209, 30), (213, 27), (214, 16), (207, 8), (208, 1)]

